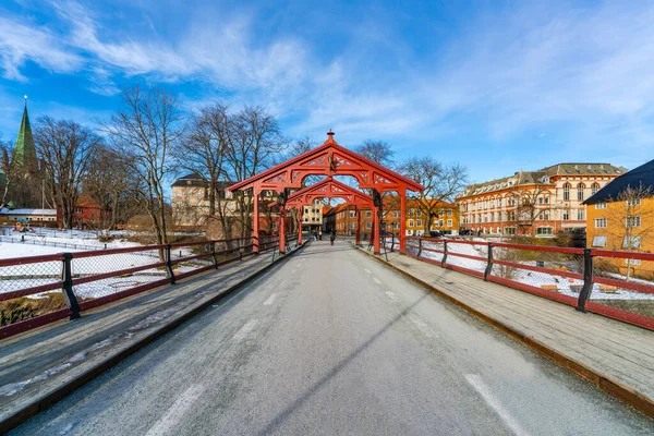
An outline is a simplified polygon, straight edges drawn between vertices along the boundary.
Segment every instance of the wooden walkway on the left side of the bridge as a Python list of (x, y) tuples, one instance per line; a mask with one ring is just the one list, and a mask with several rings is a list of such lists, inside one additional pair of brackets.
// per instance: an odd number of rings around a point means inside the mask
[(0, 434), (284, 258), (270, 251), (0, 341)]

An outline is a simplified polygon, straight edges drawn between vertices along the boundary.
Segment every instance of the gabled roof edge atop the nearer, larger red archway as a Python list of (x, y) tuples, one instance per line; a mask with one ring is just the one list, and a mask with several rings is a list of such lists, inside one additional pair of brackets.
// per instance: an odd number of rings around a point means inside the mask
[(342, 153), (343, 155), (353, 156), (353, 157), (355, 157), (355, 160), (360, 160), (361, 162), (365, 164), (368, 167), (372, 167), (372, 168), (376, 169), (378, 172), (380, 172), (383, 174), (386, 174), (387, 177), (392, 177), (393, 179), (399, 180), (400, 182), (407, 184), (411, 191), (419, 192), (419, 191), (423, 191), (424, 190), (424, 186), (421, 185), (420, 183), (417, 183), (416, 181), (411, 180), (411, 179), (409, 179), (409, 178), (407, 178), (407, 177), (404, 177), (402, 174), (399, 174), (399, 173), (397, 173), (397, 172), (395, 172), (392, 170), (389, 170), (388, 168), (386, 168), (386, 167), (384, 167), (384, 166), (382, 166), (382, 165), (379, 165), (377, 162), (374, 162), (374, 161), (372, 161), (370, 159), (366, 159), (365, 157), (359, 155), (358, 153), (354, 153), (351, 149), (341, 146), (340, 144), (338, 144), (334, 140), (334, 132), (331, 132), (331, 130), (329, 131), (329, 133), (327, 133), (327, 135), (328, 135), (327, 141), (325, 141), (323, 143), (323, 145), (320, 145), (320, 146), (318, 146), (316, 148), (310, 149), (308, 152), (305, 152), (305, 153), (303, 153), (303, 154), (301, 154), (299, 156), (295, 156), (294, 158), (291, 158), (291, 159), (289, 159), (289, 160), (287, 160), (284, 162), (276, 165), (275, 167), (269, 168), (269, 169), (267, 169), (265, 171), (262, 171), (258, 174), (255, 174), (255, 175), (253, 175), (253, 177), (251, 177), (249, 179), (245, 179), (245, 180), (243, 180), (241, 182), (238, 182), (238, 183), (233, 184), (232, 186), (230, 186), (229, 190), (230, 191), (237, 191), (237, 190), (246, 190), (246, 189), (250, 189), (250, 187), (252, 187), (252, 185), (254, 183), (256, 183), (256, 182), (258, 182), (261, 180), (264, 180), (264, 179), (266, 179), (266, 178), (268, 178), (270, 175), (274, 175), (275, 173), (277, 173), (279, 171), (282, 171), (283, 169), (286, 169), (288, 167), (291, 167), (291, 166), (293, 166), (295, 164), (300, 164), (303, 160), (305, 160), (305, 159), (307, 159), (307, 158), (310, 158), (310, 157), (312, 157), (314, 155), (317, 156), (320, 153), (323, 153), (323, 152), (325, 152), (327, 149), (330, 149), (330, 148), (334, 148), (334, 149)]

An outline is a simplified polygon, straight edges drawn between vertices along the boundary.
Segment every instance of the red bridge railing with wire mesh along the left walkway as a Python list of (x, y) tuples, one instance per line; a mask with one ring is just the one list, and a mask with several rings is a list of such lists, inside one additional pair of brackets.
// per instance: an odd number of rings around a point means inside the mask
[[(262, 251), (276, 243), (265, 240)], [(0, 339), (219, 268), (253, 249), (252, 238), (234, 238), (0, 259)]]

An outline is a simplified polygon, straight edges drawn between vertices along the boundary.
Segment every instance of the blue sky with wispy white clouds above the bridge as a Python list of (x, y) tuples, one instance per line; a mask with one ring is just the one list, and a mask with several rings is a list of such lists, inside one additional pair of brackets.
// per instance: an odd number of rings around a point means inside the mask
[(289, 137), (386, 141), (470, 181), (654, 158), (651, 1), (0, 1), (0, 132), (95, 128), (133, 83), (189, 112), (265, 106)]

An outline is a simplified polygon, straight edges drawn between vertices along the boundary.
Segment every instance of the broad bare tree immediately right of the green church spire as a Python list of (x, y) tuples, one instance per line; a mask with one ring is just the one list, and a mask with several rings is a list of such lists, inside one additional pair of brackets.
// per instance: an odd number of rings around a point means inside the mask
[(43, 117), (37, 121), (34, 140), (48, 193), (61, 209), (61, 226), (72, 229), (82, 181), (102, 138), (74, 121)]

